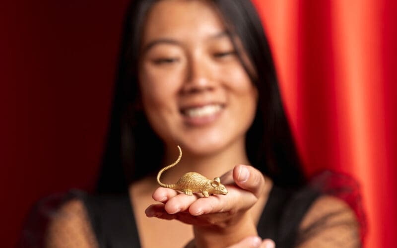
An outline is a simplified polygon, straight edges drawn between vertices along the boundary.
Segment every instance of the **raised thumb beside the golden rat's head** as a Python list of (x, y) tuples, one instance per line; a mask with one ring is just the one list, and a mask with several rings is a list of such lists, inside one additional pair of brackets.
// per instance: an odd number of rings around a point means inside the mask
[(252, 166), (235, 166), (233, 169), (233, 179), (239, 187), (252, 192), (257, 198), (265, 190), (265, 178), (263, 174)]

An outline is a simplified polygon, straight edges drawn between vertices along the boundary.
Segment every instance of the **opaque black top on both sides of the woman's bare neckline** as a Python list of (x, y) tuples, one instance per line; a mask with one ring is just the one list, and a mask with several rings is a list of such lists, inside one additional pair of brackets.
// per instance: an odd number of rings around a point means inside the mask
[[(318, 191), (311, 188), (288, 191), (273, 186), (258, 223), (259, 236), (262, 239), (272, 239), (277, 248), (294, 247), (302, 218), (319, 195)], [(81, 193), (79, 197), (87, 208), (99, 248), (140, 247), (128, 193), (121, 195)]]

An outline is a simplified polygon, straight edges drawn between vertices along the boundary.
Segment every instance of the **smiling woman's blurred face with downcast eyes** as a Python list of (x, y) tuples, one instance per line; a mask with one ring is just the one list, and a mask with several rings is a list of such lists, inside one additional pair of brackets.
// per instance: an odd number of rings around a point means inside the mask
[(145, 114), (166, 145), (198, 155), (244, 145), (258, 93), (208, 3), (156, 3), (139, 66)]

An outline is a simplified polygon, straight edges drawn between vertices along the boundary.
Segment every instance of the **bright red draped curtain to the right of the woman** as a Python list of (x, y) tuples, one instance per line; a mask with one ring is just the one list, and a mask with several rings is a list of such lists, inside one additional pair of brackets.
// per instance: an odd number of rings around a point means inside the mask
[(254, 0), (308, 175), (354, 176), (366, 247), (397, 233), (397, 25), (387, 0)]

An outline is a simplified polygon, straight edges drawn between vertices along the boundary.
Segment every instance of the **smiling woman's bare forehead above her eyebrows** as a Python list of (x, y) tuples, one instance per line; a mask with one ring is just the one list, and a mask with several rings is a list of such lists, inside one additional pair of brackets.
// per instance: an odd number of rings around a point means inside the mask
[(142, 41), (160, 37), (197, 41), (224, 29), (218, 13), (205, 0), (161, 0), (146, 17)]

